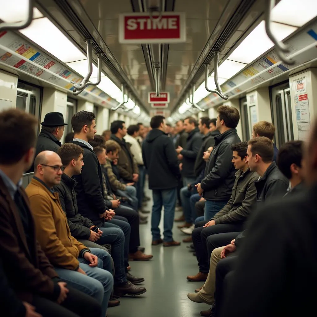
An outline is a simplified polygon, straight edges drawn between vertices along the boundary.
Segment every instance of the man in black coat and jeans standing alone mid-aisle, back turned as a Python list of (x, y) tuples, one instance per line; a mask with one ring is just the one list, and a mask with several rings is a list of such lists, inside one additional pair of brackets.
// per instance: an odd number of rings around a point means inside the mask
[[(177, 246), (172, 228), (176, 205), (176, 188), (180, 171), (174, 144), (165, 133), (165, 117), (151, 119), (152, 130), (142, 145), (144, 165), (149, 173), (149, 188), (152, 189), (152, 245)], [(164, 205), (164, 241), (161, 239), (159, 223)]]

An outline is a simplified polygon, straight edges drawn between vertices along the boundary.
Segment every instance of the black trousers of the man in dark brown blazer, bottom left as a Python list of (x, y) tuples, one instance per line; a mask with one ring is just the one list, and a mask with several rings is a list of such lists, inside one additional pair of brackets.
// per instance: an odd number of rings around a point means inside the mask
[(32, 305), (43, 317), (100, 317), (101, 306), (94, 298), (75, 288), (67, 288), (69, 293), (61, 304), (35, 295)]

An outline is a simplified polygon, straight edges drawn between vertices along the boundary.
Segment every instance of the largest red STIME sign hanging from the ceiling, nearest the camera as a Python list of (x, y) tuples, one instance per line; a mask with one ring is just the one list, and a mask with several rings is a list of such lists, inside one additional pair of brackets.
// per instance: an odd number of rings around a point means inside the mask
[(161, 16), (147, 12), (119, 15), (119, 42), (125, 44), (186, 42), (184, 12), (162, 12)]

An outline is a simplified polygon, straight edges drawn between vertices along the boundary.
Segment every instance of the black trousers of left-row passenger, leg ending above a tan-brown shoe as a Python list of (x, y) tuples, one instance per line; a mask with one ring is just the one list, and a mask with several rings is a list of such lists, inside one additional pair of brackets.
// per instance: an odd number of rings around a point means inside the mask
[[(125, 217), (131, 227), (129, 252), (134, 253), (138, 251), (140, 246), (140, 232), (139, 232), (139, 214), (132, 208), (120, 206), (115, 210), (116, 216)], [(114, 217), (116, 219), (116, 217)], [(120, 218), (117, 218), (120, 219)]]

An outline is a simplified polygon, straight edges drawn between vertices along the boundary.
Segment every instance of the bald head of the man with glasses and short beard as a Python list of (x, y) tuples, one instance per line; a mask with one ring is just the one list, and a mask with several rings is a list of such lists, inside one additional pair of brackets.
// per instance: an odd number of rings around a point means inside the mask
[(34, 161), (34, 176), (41, 179), (50, 188), (61, 182), (62, 163), (59, 155), (53, 151), (40, 152)]

